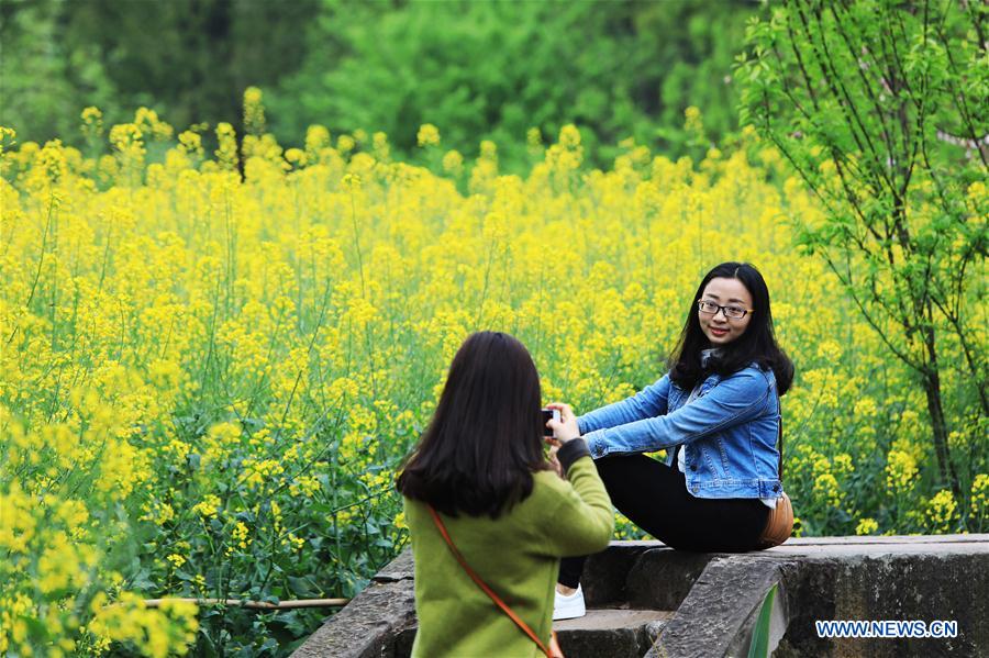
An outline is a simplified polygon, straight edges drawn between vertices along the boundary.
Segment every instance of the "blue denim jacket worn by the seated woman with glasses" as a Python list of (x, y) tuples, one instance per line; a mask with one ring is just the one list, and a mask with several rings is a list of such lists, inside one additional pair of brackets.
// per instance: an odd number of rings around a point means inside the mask
[[(777, 498), (779, 397), (771, 370), (756, 365), (711, 375), (698, 397), (669, 375), (635, 395), (577, 419), (594, 459), (682, 445), (687, 490), (698, 498)], [(666, 464), (674, 464), (670, 449)]]

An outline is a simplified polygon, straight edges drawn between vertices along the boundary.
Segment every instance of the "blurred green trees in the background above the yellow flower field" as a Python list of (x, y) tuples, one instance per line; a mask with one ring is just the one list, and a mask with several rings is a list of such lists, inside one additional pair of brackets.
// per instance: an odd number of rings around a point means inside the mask
[(284, 145), (299, 146), (319, 123), (333, 134), (384, 131), (408, 156), (419, 126), (433, 123), (445, 148), (474, 156), (492, 140), (502, 170), (519, 171), (530, 164), (531, 127), (549, 136), (581, 126), (592, 165), (609, 164), (630, 136), (689, 153), (688, 105), (703, 108), (710, 138), (735, 129), (732, 59), (757, 5), (2, 0), (0, 8), (0, 123), (21, 141), (81, 144), (87, 105), (99, 107), (108, 125), (147, 105), (178, 129), (226, 121), (242, 133), (243, 91), (258, 86)]

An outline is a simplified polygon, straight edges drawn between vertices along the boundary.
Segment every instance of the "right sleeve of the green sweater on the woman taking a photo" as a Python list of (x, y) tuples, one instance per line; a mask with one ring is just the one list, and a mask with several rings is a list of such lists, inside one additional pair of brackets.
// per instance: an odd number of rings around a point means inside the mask
[(544, 522), (551, 555), (569, 557), (603, 550), (614, 532), (614, 513), (593, 460), (579, 457), (559, 481), (557, 504)]

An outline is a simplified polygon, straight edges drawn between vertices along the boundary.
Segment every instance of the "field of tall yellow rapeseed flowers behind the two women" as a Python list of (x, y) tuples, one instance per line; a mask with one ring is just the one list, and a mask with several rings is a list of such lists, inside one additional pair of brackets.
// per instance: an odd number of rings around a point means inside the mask
[[(468, 333), (518, 336), (545, 401), (588, 411), (662, 377), (723, 260), (764, 274), (797, 365), (797, 533), (986, 528), (989, 476), (936, 483), (923, 393), (794, 247), (822, 211), (751, 132), (589, 170), (576, 127), (533, 131), (523, 177), (433, 125), (416, 163), (321, 126), (284, 149), (256, 90), (215, 148), (81, 119), (81, 150), (3, 133), (0, 653), (284, 653), (321, 613), (144, 600), (355, 594), (407, 542), (395, 472)], [(987, 428), (959, 426), (965, 455)]]

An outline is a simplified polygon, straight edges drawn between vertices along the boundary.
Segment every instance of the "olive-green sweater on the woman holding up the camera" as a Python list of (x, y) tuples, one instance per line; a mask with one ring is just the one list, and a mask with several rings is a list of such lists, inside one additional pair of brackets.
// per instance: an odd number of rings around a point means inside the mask
[[(497, 520), (441, 514), (467, 564), (547, 645), (559, 558), (603, 550), (614, 531), (611, 500), (591, 458), (579, 457), (567, 477), (534, 473), (532, 494)], [(426, 506), (404, 502), (419, 616), (413, 658), (542, 656), (470, 580)]]

